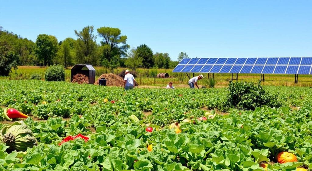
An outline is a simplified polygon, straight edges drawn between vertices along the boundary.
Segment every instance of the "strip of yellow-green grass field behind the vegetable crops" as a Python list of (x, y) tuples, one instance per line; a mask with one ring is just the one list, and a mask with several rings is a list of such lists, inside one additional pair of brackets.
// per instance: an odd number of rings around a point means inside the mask
[[(17, 71), (12, 70), (9, 76), (0, 77), (0, 79), (10, 79), (10, 80), (27, 80), (33, 73), (38, 73), (44, 78), (44, 73), (47, 67), (35, 67), (35, 66), (19, 66)], [(118, 68), (114, 71), (114, 74), (118, 74), (125, 68)], [(172, 69), (144, 69), (139, 68), (136, 70), (138, 77), (136, 81), (139, 85), (157, 85), (164, 86), (167, 85), (169, 81), (172, 81), (174, 85), (177, 84), (188, 84), (188, 76), (186, 73), (172, 73)], [(70, 81), (71, 68), (65, 70), (66, 81)], [(95, 67), (95, 78), (97, 79), (100, 75), (108, 73), (104, 67)], [(152, 72), (162, 73), (167, 72), (170, 78), (154, 78)], [(194, 73), (196, 76), (199, 73)], [(203, 74), (205, 78), (208, 78), (208, 74)], [(193, 74), (191, 74), (193, 76)], [(212, 78), (212, 74), (209, 75)], [(235, 77), (233, 75), (233, 77)], [(214, 74), (214, 78), (217, 80), (216, 85), (226, 86), (232, 78), (232, 74)], [(260, 80), (260, 74), (239, 74), (238, 81), (258, 81)], [(312, 87), (312, 76), (310, 75), (299, 75), (298, 83), (295, 84), (294, 75), (280, 75), (280, 74), (266, 74), (265, 81), (261, 82), (262, 85), (272, 85), (272, 86), (309, 86)], [(202, 85), (202, 81), (199, 84)]]

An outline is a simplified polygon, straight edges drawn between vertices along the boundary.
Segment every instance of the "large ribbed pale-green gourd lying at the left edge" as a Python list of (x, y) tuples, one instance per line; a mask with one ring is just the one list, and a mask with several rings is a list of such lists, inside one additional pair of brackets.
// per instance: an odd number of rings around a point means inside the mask
[(9, 146), (9, 149), (17, 151), (26, 151), (27, 147), (32, 148), (38, 144), (32, 131), (23, 121), (3, 127), (0, 131), (0, 140)]

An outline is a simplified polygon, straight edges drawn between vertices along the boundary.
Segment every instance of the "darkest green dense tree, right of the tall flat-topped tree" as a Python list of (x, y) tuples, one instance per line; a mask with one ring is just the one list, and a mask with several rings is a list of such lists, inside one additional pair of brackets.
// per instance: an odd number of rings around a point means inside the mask
[(143, 65), (145, 68), (151, 68), (154, 66), (153, 51), (146, 44), (141, 44), (136, 49), (136, 54), (139, 58), (143, 59)]

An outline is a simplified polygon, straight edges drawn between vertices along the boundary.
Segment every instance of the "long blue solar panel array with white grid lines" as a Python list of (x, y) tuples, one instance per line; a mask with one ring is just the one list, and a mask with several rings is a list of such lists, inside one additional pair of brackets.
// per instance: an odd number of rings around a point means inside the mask
[(184, 58), (172, 72), (312, 74), (312, 57)]

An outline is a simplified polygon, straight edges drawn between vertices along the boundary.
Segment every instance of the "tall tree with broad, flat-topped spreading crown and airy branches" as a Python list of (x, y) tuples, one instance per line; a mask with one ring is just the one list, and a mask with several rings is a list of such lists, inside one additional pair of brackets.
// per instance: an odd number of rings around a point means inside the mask
[(101, 27), (97, 29), (97, 32), (103, 38), (101, 41), (103, 59), (110, 61), (115, 56), (126, 56), (130, 46), (126, 44), (127, 36), (121, 35), (118, 28)]

